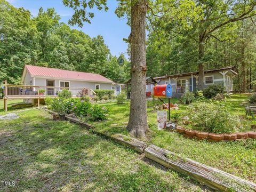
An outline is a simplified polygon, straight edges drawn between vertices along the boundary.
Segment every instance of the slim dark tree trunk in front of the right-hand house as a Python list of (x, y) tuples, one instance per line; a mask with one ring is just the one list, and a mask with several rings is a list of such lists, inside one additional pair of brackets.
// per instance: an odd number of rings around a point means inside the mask
[(198, 49), (198, 89), (201, 90), (204, 88), (204, 41), (201, 40), (199, 42), (199, 49)]

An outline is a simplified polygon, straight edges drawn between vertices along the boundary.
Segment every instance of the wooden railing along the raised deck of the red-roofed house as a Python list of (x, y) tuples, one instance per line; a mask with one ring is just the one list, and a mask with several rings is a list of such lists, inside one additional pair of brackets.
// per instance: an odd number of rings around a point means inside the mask
[(57, 97), (63, 89), (69, 90), (73, 97), (79, 97), (82, 93), (89, 96), (95, 94), (93, 90), (86, 87), (6, 85), (4, 87), (4, 97)]

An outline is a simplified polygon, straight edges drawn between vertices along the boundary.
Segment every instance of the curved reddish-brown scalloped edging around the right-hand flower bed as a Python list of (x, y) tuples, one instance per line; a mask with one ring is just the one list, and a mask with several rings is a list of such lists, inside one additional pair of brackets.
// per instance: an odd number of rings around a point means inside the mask
[(256, 131), (230, 133), (230, 134), (216, 134), (216, 133), (208, 133), (208, 132), (185, 129), (182, 126), (178, 126), (176, 130), (178, 133), (183, 134), (184, 137), (196, 138), (199, 140), (207, 139), (209, 141), (235, 141), (235, 140), (247, 139), (247, 138), (256, 139)]

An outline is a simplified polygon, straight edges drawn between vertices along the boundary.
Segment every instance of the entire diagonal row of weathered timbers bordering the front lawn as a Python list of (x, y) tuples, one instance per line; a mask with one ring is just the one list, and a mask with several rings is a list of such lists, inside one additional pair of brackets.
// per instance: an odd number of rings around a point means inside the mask
[[(53, 111), (43, 108), (51, 114), (55, 114)], [(77, 118), (66, 117), (68, 121), (77, 123), (81, 126), (90, 129), (93, 133), (107, 137), (122, 145), (132, 148), (139, 153), (145, 153), (145, 156), (167, 168), (173, 169), (180, 173), (190, 175), (196, 181), (203, 183), (212, 189), (221, 191), (231, 191), (231, 189), (238, 189), (235, 191), (241, 191), (239, 189), (246, 189), (245, 191), (256, 191), (256, 184), (241, 178), (238, 178), (232, 174), (223, 172), (210, 166), (206, 166), (202, 163), (195, 162), (188, 158), (182, 158), (178, 154), (174, 154), (169, 150), (162, 149), (160, 147), (147, 144), (143, 141), (135, 138), (128, 137), (122, 134), (108, 135), (95, 131), (95, 126), (79, 121)]]

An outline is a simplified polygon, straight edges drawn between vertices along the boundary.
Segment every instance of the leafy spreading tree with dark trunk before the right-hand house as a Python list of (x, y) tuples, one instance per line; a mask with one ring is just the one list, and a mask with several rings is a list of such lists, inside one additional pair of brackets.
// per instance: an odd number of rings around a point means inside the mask
[[(159, 1), (151, 9), (150, 23), (160, 29), (169, 31), (173, 36), (185, 35), (198, 45), (199, 86), (204, 85), (205, 46), (210, 38), (225, 41), (228, 31), (234, 29), (234, 23), (256, 15), (255, 0), (188, 0)], [(159, 14), (155, 14), (155, 12)], [(157, 30), (157, 28), (151, 27)], [(226, 33), (223, 39), (222, 33)], [(223, 37), (223, 36), (222, 36)]]

